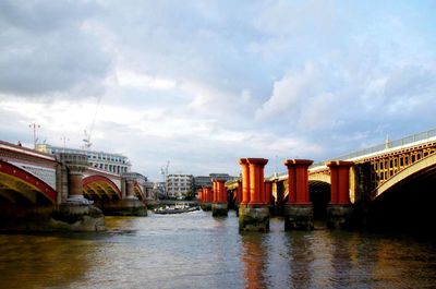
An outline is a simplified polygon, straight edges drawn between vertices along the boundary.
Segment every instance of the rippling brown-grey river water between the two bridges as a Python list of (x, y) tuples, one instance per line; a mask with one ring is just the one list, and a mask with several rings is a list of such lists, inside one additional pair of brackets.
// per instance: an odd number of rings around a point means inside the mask
[(0, 288), (436, 288), (436, 245), (400, 234), (240, 233), (234, 212), (107, 217), (108, 231), (0, 234)]

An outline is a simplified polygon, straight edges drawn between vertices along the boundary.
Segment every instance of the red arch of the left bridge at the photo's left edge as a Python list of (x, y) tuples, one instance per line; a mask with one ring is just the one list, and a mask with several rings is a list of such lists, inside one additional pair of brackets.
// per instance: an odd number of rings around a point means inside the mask
[(45, 181), (3, 160), (0, 160), (0, 195), (11, 203), (16, 203), (16, 195), (33, 204), (57, 204), (58, 200), (58, 193)]

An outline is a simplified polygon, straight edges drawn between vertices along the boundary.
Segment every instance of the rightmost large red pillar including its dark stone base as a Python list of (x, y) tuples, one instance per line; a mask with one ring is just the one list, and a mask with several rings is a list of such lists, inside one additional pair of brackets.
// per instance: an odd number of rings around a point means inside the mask
[(327, 207), (327, 227), (343, 229), (352, 227), (353, 206), (350, 202), (350, 168), (352, 161), (329, 161), (331, 195)]

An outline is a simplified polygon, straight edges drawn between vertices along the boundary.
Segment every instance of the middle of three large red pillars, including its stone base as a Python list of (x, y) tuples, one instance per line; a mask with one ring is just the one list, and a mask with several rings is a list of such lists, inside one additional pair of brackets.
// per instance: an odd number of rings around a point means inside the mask
[(284, 205), (284, 230), (313, 230), (313, 205), (308, 200), (307, 168), (313, 160), (288, 159), (288, 202)]

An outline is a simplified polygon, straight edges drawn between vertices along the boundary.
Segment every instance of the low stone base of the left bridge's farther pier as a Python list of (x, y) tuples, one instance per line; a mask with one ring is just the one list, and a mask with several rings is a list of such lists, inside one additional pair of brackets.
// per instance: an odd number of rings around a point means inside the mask
[(128, 197), (105, 204), (102, 212), (107, 216), (147, 216), (147, 206), (137, 198)]

